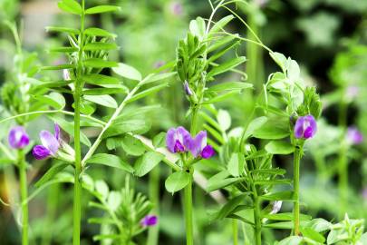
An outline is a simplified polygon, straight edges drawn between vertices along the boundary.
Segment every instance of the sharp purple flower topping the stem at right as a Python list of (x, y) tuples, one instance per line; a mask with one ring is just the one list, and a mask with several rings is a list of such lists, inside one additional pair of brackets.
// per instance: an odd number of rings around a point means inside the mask
[(309, 139), (314, 137), (317, 124), (313, 115), (300, 116), (295, 122), (295, 138)]

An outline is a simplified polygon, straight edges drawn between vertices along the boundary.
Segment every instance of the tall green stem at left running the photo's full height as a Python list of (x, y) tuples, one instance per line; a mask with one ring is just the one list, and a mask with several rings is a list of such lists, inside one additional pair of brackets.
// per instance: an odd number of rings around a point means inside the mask
[(82, 50), (84, 44), (84, 0), (82, 0), (81, 34), (79, 36), (78, 66), (75, 82), (74, 99), (74, 151), (75, 151), (75, 172), (74, 172), (74, 205), (73, 205), (73, 232), (72, 244), (81, 244), (81, 218), (82, 218), (82, 184), (80, 175), (82, 172), (82, 151), (81, 151), (81, 93), (82, 93)]

